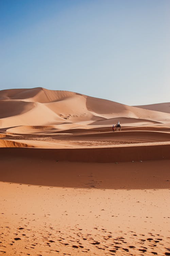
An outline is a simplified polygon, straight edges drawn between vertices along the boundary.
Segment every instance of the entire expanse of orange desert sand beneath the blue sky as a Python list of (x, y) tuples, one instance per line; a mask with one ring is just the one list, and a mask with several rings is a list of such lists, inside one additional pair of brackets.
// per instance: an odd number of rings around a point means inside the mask
[(1, 90), (0, 255), (170, 255), (169, 106)]

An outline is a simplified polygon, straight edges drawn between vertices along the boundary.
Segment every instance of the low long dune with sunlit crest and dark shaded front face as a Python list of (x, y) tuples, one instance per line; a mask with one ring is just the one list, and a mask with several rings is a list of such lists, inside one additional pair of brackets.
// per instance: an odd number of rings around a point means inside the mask
[[(2, 146), (6, 140), (2, 140)], [(124, 162), (124, 161), (140, 161), (140, 160), (156, 160), (156, 159), (170, 159), (170, 143), (169, 142), (154, 142), (154, 143), (117, 143), (116, 145), (103, 145), (96, 142), (96, 144), (90, 144), (87, 146), (79, 145), (72, 146), (69, 141), (59, 143), (39, 141), (26, 141), (21, 140), (21, 148), (13, 148), (13, 141), (6, 141), (6, 144), (11, 145), (1, 150), (2, 154), (13, 154), (13, 156), (19, 155), (24, 157), (28, 155), (30, 157), (37, 158), (49, 158), (56, 161), (75, 161), (75, 162)], [(11, 143), (11, 144), (10, 144)], [(16, 145), (19, 142), (14, 140)], [(26, 147), (41, 147), (41, 148), (23, 148), (22, 145), (28, 143)], [(83, 143), (81, 143), (83, 144)], [(39, 145), (39, 146), (37, 146)], [(58, 147), (57, 147), (58, 146)], [(3, 146), (4, 147), (4, 146)], [(18, 146), (17, 146), (18, 147)], [(45, 147), (45, 148), (44, 148)], [(1, 154), (1, 155), (2, 155)]]

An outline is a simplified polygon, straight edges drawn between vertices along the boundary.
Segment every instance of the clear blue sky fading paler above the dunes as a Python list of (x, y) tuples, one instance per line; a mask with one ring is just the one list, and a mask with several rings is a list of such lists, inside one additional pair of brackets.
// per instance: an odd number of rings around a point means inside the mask
[(0, 0), (0, 90), (170, 102), (169, 0)]

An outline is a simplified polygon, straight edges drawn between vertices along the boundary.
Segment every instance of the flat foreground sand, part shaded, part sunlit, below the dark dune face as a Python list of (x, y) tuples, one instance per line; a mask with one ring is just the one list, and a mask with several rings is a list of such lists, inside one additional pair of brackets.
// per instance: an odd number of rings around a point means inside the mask
[(165, 255), (169, 166), (2, 159), (1, 254)]

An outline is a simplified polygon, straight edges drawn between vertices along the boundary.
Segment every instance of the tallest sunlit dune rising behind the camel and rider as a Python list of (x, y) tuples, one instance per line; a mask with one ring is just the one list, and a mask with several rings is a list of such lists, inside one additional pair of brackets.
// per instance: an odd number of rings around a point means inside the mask
[(168, 123), (170, 113), (136, 108), (69, 91), (44, 88), (0, 91), (0, 128), (75, 122), (111, 125), (118, 118), (121, 118), (122, 124), (131, 124), (133, 120), (134, 123), (138, 120), (145, 124)]

